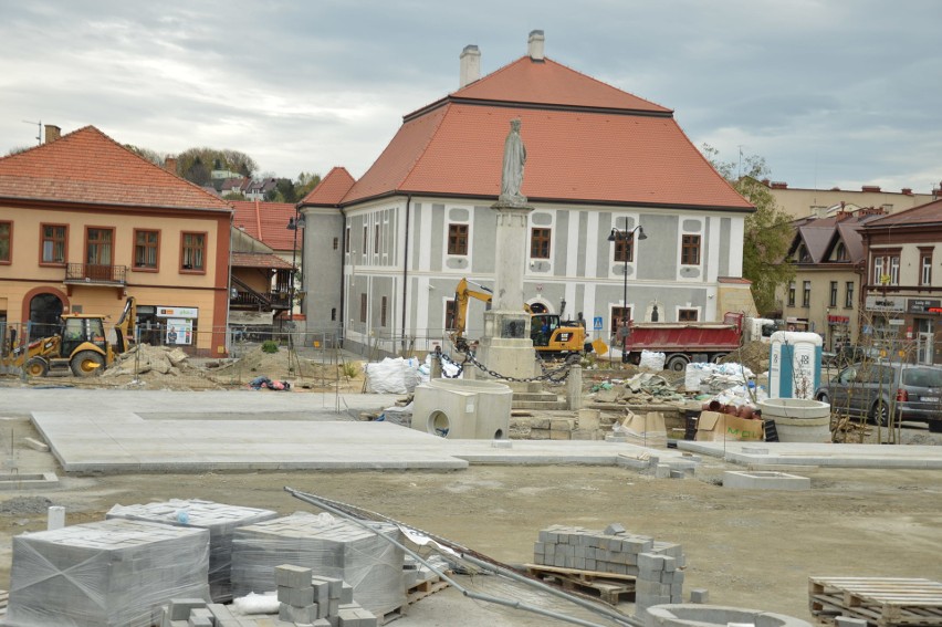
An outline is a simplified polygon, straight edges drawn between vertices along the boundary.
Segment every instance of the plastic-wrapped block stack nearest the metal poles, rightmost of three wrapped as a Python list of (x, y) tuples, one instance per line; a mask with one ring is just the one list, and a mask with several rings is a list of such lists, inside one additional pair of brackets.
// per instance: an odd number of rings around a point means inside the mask
[(347, 582), (357, 602), (377, 616), (406, 603), (404, 551), (396, 525), (363, 529), (328, 514), (300, 512), (239, 527), (232, 539), (232, 585), (237, 596), (276, 588), (275, 566), (293, 564), (314, 575)]

